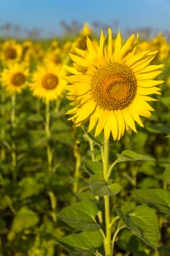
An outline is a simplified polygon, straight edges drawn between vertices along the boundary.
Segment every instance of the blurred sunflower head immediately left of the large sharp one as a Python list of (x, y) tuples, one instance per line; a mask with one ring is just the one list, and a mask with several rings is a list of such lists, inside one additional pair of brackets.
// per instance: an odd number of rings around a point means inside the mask
[(30, 84), (34, 96), (45, 99), (47, 102), (58, 99), (63, 94), (63, 86), (66, 80), (61, 77), (65, 75), (65, 69), (61, 64), (47, 63), (46, 66), (39, 65), (32, 75)]

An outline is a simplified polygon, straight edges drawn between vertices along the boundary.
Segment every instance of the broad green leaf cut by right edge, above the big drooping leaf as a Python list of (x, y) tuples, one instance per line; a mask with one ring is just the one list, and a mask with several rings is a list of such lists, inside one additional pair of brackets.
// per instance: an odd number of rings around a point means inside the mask
[(139, 203), (146, 203), (164, 214), (170, 214), (170, 192), (164, 189), (136, 189), (134, 197)]

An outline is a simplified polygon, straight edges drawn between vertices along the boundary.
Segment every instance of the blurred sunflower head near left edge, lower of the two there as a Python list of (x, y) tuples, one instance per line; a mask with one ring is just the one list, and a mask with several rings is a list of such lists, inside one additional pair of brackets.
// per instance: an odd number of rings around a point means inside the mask
[(9, 94), (20, 93), (28, 85), (28, 67), (11, 62), (1, 72), (2, 86), (6, 86)]

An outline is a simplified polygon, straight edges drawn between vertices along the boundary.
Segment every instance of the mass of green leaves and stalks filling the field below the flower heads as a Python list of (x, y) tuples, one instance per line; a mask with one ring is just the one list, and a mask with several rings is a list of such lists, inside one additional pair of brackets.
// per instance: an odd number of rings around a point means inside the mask
[[(31, 72), (36, 64), (32, 59)], [(166, 61), (165, 81), (169, 70)], [(104, 256), (109, 197), (115, 256), (169, 256), (170, 89), (161, 87), (156, 111), (142, 119), (144, 127), (136, 125), (138, 134), (110, 140), (104, 176), (104, 135), (72, 127), (65, 97), (50, 102), (47, 137), (45, 102), (26, 89), (12, 106), (1, 86), (0, 255)]]

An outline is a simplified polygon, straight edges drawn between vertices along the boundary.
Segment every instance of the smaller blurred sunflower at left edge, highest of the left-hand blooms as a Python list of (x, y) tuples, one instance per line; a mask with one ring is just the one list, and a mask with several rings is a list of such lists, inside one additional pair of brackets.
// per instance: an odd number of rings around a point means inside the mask
[(1, 47), (0, 59), (4, 64), (8, 64), (10, 61), (20, 61), (22, 51), (22, 45), (15, 39), (9, 39)]

